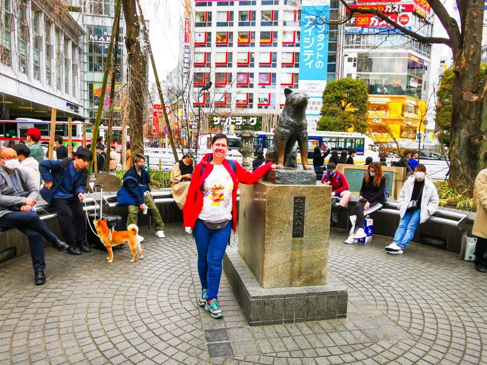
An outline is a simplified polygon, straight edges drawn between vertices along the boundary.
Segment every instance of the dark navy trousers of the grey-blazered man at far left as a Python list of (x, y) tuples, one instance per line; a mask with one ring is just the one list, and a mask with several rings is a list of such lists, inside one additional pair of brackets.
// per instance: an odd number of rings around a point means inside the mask
[(32, 266), (34, 270), (46, 268), (42, 236), (49, 242), (56, 240), (56, 235), (39, 219), (36, 212), (10, 212), (0, 218), (0, 228), (17, 228), (29, 240)]

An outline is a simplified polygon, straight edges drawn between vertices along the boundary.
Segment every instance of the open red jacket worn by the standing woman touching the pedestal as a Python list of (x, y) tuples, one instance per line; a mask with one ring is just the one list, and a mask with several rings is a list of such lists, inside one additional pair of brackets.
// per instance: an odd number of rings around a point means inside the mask
[[(208, 153), (201, 159), (201, 162), (196, 165), (193, 171), (193, 177), (191, 178), (191, 183), (189, 184), (189, 190), (186, 196), (186, 203), (183, 206), (183, 220), (185, 227), (194, 228), (194, 223), (198, 216), (200, 215), (201, 209), (203, 209), (203, 193), (201, 187), (205, 182), (205, 179), (213, 171), (213, 165), (210, 164), (213, 155)], [(269, 162), (260, 166), (254, 172), (249, 172), (242, 167), (237, 161), (235, 161), (235, 172), (232, 167), (226, 161), (223, 161), (223, 165), (230, 174), (233, 180), (233, 192), (232, 192), (232, 228), (233, 232), (237, 229), (237, 190), (239, 183), (253, 184), (257, 183), (262, 176), (265, 175), (267, 171), (271, 169), (273, 163)], [(205, 170), (203, 174), (201, 173), (202, 166), (205, 165)]]

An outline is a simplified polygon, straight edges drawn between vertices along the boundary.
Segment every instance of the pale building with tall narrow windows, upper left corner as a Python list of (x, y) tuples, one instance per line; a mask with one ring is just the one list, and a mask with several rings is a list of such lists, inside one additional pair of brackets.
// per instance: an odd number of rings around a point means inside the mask
[[(0, 26), (1, 119), (81, 119), (84, 32), (48, 1), (3, 0)], [(0, 131), (0, 134), (2, 132)]]

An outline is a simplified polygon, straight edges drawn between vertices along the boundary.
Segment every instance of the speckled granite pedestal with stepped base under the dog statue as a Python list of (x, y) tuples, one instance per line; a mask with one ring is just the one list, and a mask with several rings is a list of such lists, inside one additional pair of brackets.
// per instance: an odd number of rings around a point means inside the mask
[(331, 187), (316, 183), (240, 186), (238, 253), (224, 269), (249, 324), (346, 316), (346, 289), (326, 282), (330, 206)]

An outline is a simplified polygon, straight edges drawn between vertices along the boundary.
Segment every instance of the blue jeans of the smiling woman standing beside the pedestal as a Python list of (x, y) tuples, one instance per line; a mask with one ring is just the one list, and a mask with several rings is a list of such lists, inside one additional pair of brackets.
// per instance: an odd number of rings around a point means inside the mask
[(193, 228), (193, 237), (198, 250), (198, 274), (201, 288), (207, 289), (206, 300), (218, 296), (222, 278), (222, 261), (232, 231), (231, 221), (225, 228), (211, 230), (201, 219), (197, 219)]

